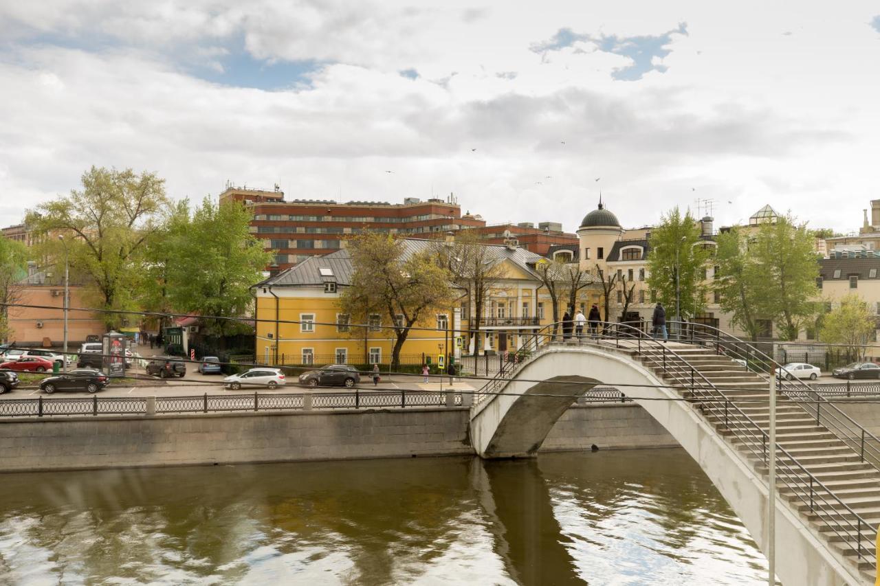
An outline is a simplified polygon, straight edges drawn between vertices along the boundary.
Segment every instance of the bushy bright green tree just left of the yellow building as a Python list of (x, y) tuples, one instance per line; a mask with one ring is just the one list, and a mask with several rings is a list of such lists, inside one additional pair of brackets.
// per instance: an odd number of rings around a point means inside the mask
[(202, 315), (209, 335), (242, 331), (238, 318), (253, 301), (272, 253), (250, 232), (251, 212), (238, 201), (216, 204), (205, 198), (190, 212), (188, 201), (174, 209), (165, 230), (150, 245), (157, 278), (153, 300), (175, 311)]

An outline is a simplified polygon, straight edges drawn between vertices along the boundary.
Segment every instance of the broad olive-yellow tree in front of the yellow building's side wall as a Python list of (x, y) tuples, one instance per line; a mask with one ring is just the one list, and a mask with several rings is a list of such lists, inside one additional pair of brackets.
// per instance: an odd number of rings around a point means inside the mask
[(407, 253), (403, 241), (390, 234), (366, 232), (348, 240), (348, 252), (353, 267), (348, 289), (384, 308), (396, 337), (392, 370), (397, 370), (410, 328), (428, 311), (451, 302), (452, 275), (432, 251)]

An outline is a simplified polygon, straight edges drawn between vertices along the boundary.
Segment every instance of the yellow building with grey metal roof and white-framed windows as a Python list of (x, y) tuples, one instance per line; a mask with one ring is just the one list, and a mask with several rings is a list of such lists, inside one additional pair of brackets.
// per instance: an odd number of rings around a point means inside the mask
[[(437, 245), (436, 240), (416, 238), (403, 242), (407, 253)], [(440, 355), (473, 352), (473, 336), (468, 333), (477, 326), (477, 319), (480, 350), (495, 352), (522, 347), (551, 322), (550, 297), (535, 272), (543, 257), (513, 243), (485, 246), (488, 258), (500, 264), (501, 271), (482, 315), (473, 315), (473, 299), (459, 289), (463, 295), (451, 307), (433, 311), (417, 324), (425, 329), (409, 334), (401, 364), (421, 364), (422, 359), (436, 363)], [(343, 249), (304, 260), (257, 284), (258, 359), (279, 364), (389, 363), (396, 337), (387, 311), (366, 317), (368, 327), (354, 327), (355, 320), (339, 308), (341, 291), (350, 286), (352, 271), (350, 256)]]

